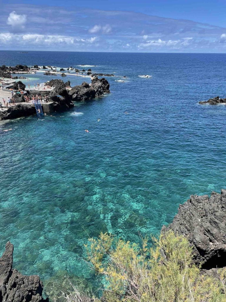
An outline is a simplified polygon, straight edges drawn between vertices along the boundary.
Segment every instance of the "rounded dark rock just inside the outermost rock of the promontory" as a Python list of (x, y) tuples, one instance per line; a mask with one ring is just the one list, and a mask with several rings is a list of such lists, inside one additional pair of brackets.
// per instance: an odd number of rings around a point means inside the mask
[(88, 83), (83, 82), (82, 85), (72, 87), (69, 91), (69, 95), (72, 101), (86, 101), (95, 98), (96, 92)]

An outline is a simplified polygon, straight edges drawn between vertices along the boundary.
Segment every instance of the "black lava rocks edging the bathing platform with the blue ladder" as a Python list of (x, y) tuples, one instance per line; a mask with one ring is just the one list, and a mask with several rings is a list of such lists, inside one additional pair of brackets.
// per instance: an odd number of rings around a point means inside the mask
[[(18, 82), (15, 84), (17, 84), (18, 89)], [(97, 77), (91, 79), (91, 84), (83, 82), (81, 85), (72, 87), (71, 90), (67, 89), (70, 87), (70, 81), (65, 83), (62, 80), (52, 79), (48, 85), (54, 87), (54, 89), (46, 91), (26, 91), (24, 87), (27, 95), (39, 94), (42, 97), (48, 96), (49, 102), (51, 102), (51, 108), (49, 109), (51, 111), (48, 112), (68, 110), (74, 107), (75, 101), (88, 101), (110, 93), (110, 84), (108, 81), (104, 78), (98, 79)], [(16, 95), (15, 102), (20, 104), (8, 107), (7, 111), (0, 111), (0, 120), (29, 116), (36, 113), (34, 105), (24, 101), (24, 95)]]

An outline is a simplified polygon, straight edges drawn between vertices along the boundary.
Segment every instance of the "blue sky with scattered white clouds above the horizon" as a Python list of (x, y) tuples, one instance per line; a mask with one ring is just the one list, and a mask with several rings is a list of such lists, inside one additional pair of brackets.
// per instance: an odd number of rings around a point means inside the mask
[(226, 51), (225, 0), (0, 0), (0, 8), (0, 50)]

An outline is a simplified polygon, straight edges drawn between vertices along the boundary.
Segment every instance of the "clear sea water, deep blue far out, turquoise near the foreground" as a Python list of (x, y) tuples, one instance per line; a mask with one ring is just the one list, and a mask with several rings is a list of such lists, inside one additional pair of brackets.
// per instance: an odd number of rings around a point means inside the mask
[(226, 106), (198, 104), (226, 97), (226, 54), (0, 51), (2, 64), (115, 74), (105, 97), (0, 123), (0, 251), (14, 244), (21, 273), (89, 280), (89, 237), (138, 242), (170, 223), (190, 194), (226, 188)]

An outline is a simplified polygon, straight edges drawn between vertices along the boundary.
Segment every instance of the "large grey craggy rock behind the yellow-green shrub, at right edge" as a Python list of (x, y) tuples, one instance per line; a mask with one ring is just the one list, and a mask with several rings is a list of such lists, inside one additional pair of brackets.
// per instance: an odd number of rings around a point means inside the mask
[(167, 229), (187, 237), (194, 246), (194, 262), (210, 270), (226, 266), (226, 190), (221, 194), (191, 195), (179, 206)]

